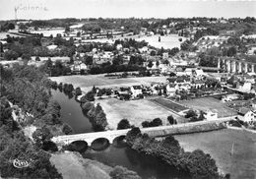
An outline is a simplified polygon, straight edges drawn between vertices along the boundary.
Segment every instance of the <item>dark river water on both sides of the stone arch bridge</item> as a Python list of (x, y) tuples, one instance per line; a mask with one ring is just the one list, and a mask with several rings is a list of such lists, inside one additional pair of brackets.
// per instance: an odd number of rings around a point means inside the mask
[[(58, 89), (51, 90), (52, 98), (61, 106), (61, 118), (68, 123), (75, 134), (94, 132), (87, 117), (84, 116), (80, 103), (74, 98), (69, 98)], [(157, 159), (139, 154), (133, 149), (123, 145), (122, 147), (109, 146), (107, 149), (96, 151), (88, 149), (82, 153), (84, 157), (95, 159), (110, 166), (121, 165), (136, 171), (143, 179), (156, 177), (157, 179), (186, 179), (174, 169), (169, 168)]]

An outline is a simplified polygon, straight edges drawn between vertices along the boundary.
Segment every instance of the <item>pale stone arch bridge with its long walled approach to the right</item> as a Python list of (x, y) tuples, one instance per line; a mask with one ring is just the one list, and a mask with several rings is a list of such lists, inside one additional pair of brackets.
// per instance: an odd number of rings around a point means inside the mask
[[(175, 134), (188, 134), (196, 132), (206, 132), (218, 130), (224, 127), (221, 125), (231, 118), (218, 119), (213, 121), (200, 121), (194, 123), (186, 124), (177, 124), (172, 126), (160, 126), (160, 127), (151, 127), (151, 128), (141, 128), (142, 133), (147, 133), (151, 137), (163, 137), (168, 135)], [(75, 141), (85, 141), (88, 146), (92, 146), (93, 142), (97, 139), (106, 139), (109, 144), (112, 144), (115, 139), (121, 136), (126, 136), (128, 131), (131, 129), (124, 130), (113, 130), (113, 131), (103, 131), (95, 133), (84, 133), (76, 135), (66, 135), (66, 136), (57, 136), (51, 139), (52, 142), (56, 143), (59, 146), (69, 145)]]

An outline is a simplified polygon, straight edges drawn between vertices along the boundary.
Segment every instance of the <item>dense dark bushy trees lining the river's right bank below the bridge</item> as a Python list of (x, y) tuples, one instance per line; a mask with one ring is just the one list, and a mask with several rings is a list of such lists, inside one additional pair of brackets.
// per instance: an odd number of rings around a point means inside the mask
[(184, 151), (172, 136), (162, 141), (142, 134), (139, 128), (131, 129), (126, 135), (126, 142), (131, 149), (139, 153), (159, 158), (169, 168), (174, 168), (191, 178), (196, 179), (224, 179), (218, 172), (215, 159), (200, 149)]

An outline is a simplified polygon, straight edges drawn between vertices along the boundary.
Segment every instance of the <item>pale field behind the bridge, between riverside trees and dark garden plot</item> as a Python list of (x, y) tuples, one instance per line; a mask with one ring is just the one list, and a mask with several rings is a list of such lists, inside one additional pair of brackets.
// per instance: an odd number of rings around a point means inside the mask
[(128, 119), (131, 125), (141, 126), (143, 121), (152, 121), (159, 117), (163, 125), (165, 125), (167, 116), (173, 115), (178, 122), (182, 122), (179, 119), (180, 117), (173, 112), (147, 99), (122, 101), (116, 98), (109, 98), (97, 100), (96, 102), (99, 102), (102, 106), (111, 129), (116, 129), (121, 119)]

